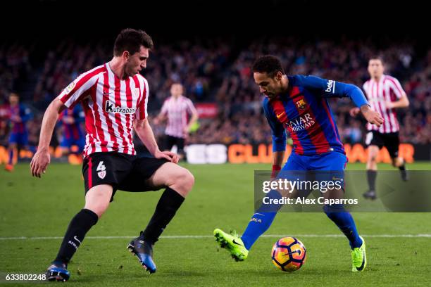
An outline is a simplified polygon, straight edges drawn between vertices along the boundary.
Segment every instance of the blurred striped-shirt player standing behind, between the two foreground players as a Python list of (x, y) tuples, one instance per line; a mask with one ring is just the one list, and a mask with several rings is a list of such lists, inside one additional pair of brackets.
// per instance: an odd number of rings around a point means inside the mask
[[(189, 98), (182, 95), (183, 91), (182, 84), (179, 83), (175, 83), (170, 87), (171, 96), (166, 98), (161, 112), (155, 120), (156, 124), (161, 120), (168, 120), (168, 125), (166, 125), (165, 129), (165, 149), (170, 151), (176, 145), (180, 158), (184, 157), (184, 144), (189, 135), (190, 127), (198, 120), (196, 108), (194, 108)], [(190, 117), (189, 120), (188, 117)]]

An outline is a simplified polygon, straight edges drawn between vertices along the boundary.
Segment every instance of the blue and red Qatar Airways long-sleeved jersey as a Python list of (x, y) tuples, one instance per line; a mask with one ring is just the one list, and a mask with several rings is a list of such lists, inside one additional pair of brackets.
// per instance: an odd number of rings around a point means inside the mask
[(360, 107), (368, 104), (361, 89), (314, 76), (294, 75), (288, 79), (284, 94), (263, 99), (263, 111), (273, 134), (273, 151), (285, 151), (287, 130), (296, 154), (345, 153), (327, 98), (349, 96)]

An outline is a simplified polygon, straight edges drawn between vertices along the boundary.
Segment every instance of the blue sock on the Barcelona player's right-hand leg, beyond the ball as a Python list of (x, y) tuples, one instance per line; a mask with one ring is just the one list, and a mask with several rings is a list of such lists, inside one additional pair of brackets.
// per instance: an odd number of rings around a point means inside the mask
[(337, 224), (337, 227), (349, 239), (351, 249), (361, 247), (362, 240), (359, 237), (358, 230), (356, 230), (354, 219), (349, 212), (344, 210), (342, 204), (325, 205), (323, 210), (327, 217)]

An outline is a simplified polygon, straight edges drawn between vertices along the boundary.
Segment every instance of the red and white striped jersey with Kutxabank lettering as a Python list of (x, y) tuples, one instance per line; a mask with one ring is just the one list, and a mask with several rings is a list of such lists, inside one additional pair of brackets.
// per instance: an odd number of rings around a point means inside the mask
[(132, 122), (147, 117), (148, 95), (148, 82), (142, 75), (120, 79), (106, 63), (77, 77), (58, 98), (68, 108), (82, 103), (87, 157), (108, 151), (136, 154)]

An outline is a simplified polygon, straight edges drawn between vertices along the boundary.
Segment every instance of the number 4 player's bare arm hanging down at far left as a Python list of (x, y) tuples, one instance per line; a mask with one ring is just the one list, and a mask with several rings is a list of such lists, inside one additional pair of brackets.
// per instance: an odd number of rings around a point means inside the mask
[(37, 152), (30, 162), (30, 170), (33, 177), (41, 177), (42, 172), (46, 172), (46, 167), (49, 165), (51, 158), (49, 156), (49, 143), (51, 142), (52, 133), (58, 120), (58, 114), (65, 109), (64, 104), (55, 98), (44, 113), (42, 120), (42, 128), (40, 129), (39, 145)]

